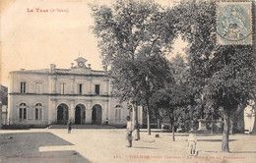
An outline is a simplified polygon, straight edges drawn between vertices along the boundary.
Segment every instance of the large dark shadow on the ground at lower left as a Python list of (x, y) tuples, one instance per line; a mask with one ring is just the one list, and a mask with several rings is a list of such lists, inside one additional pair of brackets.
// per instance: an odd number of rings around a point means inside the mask
[(0, 162), (90, 162), (77, 151), (39, 152), (40, 146), (73, 145), (51, 133), (17, 133), (0, 135)]

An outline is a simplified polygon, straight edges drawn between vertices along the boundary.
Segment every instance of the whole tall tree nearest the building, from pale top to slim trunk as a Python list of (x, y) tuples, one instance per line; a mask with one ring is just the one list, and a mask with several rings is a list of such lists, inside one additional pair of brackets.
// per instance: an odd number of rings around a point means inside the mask
[(111, 7), (91, 8), (102, 63), (110, 67), (113, 88), (118, 90), (115, 95), (146, 108), (150, 135), (149, 100), (166, 77), (162, 55), (171, 49), (174, 27), (165, 26), (170, 20), (151, 1), (118, 0)]

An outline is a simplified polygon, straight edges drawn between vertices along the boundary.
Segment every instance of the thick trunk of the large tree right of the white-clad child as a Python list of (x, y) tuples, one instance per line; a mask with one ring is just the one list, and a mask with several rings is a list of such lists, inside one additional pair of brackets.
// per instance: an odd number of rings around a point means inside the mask
[(224, 112), (224, 132), (223, 132), (222, 152), (229, 152), (228, 136), (229, 136), (229, 115)]

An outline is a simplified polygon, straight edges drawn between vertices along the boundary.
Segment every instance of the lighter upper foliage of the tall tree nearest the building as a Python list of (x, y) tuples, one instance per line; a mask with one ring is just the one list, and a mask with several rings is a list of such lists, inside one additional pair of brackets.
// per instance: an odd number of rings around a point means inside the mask
[(113, 67), (118, 59), (163, 53), (162, 44), (170, 48), (175, 32), (165, 26), (169, 20), (159, 4), (118, 0), (111, 7), (91, 4), (91, 8), (104, 65)]

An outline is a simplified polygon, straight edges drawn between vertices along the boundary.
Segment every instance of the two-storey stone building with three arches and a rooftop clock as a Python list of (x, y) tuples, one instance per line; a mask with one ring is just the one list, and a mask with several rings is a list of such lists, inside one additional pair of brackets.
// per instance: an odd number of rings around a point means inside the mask
[[(111, 96), (110, 78), (94, 71), (79, 57), (71, 69), (21, 70), (9, 75), (10, 125), (106, 124), (125, 125), (127, 103)], [(142, 108), (138, 109), (142, 124)]]

